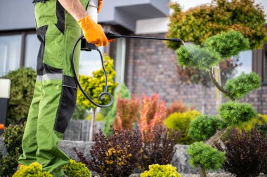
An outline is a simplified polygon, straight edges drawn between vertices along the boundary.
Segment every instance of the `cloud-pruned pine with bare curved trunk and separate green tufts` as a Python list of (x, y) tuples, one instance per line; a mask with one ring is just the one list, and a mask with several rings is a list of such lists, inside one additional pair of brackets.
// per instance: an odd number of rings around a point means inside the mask
[[(242, 75), (237, 78), (227, 80), (224, 87), (214, 78), (214, 66), (217, 66), (220, 61), (223, 61), (228, 57), (238, 55), (240, 51), (248, 48), (249, 40), (240, 32), (232, 30), (228, 33), (221, 32), (221, 34), (207, 38), (207, 40), (204, 41), (203, 46), (185, 45), (176, 50), (178, 64), (184, 67), (192, 66), (202, 71), (207, 71), (214, 85), (226, 98), (231, 100), (225, 104), (221, 104), (219, 108), (219, 115), (221, 119), (219, 122), (221, 122), (221, 125), (215, 125), (215, 127), (206, 131), (207, 123), (210, 120), (207, 120), (207, 118), (203, 118), (202, 116), (198, 116), (195, 119), (195, 122), (190, 124), (191, 134), (189, 135), (192, 136), (191, 138), (207, 140), (205, 141), (207, 145), (200, 143), (196, 146), (194, 143), (188, 149), (191, 161), (194, 162), (193, 164), (198, 164), (200, 166), (201, 176), (207, 175), (206, 169), (217, 169), (220, 167), (219, 164), (216, 166), (205, 166), (205, 164), (202, 164), (203, 161), (201, 158), (206, 158), (207, 154), (209, 154), (207, 153), (207, 150), (211, 151), (209, 148), (211, 148), (211, 146), (213, 146), (217, 141), (220, 141), (221, 136), (225, 134), (228, 127), (239, 125), (242, 122), (249, 121), (256, 117), (256, 111), (254, 111), (250, 104), (237, 102), (237, 99), (245, 97), (248, 92), (260, 87), (261, 80), (256, 73), (242, 73)], [(223, 128), (224, 122), (226, 125)], [(192, 134), (192, 132), (195, 131), (202, 132), (202, 137)], [(204, 150), (205, 148), (207, 150)], [(215, 156), (220, 156), (220, 152), (214, 151), (214, 154)], [(210, 160), (217, 160), (216, 162), (221, 163), (221, 165), (223, 163), (223, 161), (219, 158), (210, 158)]]

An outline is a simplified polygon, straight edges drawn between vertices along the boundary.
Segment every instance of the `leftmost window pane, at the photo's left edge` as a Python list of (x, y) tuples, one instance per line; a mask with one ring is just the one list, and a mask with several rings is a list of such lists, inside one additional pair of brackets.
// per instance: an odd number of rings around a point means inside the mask
[(0, 76), (20, 67), (22, 35), (0, 36)]

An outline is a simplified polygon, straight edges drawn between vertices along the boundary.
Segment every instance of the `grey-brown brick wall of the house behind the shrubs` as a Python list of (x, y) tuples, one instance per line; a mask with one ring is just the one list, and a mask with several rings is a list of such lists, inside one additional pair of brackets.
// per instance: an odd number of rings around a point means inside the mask
[[(164, 37), (164, 34), (148, 36)], [(181, 100), (201, 111), (204, 97), (202, 86), (183, 85), (179, 82), (174, 50), (166, 48), (162, 41), (154, 40), (131, 40), (129, 45), (126, 85), (131, 93), (138, 97), (143, 93), (158, 93), (167, 104)], [(267, 114), (267, 87), (252, 92), (243, 101), (252, 103), (259, 113)], [(207, 90), (206, 104), (206, 113), (216, 114), (214, 87)]]

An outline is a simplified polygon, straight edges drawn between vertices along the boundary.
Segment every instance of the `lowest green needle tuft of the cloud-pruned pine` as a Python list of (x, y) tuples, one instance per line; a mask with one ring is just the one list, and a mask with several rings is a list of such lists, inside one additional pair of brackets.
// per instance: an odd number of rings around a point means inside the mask
[(223, 152), (211, 148), (202, 142), (195, 142), (188, 148), (190, 155), (190, 165), (192, 167), (200, 166), (204, 169), (220, 169), (223, 166)]

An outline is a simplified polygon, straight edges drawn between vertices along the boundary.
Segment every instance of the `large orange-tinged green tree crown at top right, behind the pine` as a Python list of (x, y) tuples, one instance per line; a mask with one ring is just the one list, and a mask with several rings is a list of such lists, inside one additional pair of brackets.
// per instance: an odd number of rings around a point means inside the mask
[[(168, 38), (182, 38), (203, 45), (210, 36), (234, 29), (249, 38), (252, 49), (261, 48), (266, 41), (263, 7), (252, 0), (214, 0), (186, 11), (182, 11), (178, 3), (173, 3), (171, 9), (174, 13), (170, 17)], [(169, 48), (179, 48), (177, 43), (167, 44)]]

